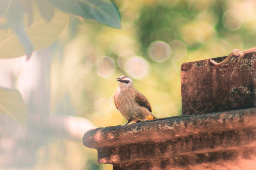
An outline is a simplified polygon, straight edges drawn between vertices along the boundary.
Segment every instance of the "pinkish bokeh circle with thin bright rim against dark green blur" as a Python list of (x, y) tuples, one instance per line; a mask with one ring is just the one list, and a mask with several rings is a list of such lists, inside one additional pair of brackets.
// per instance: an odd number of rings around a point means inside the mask
[(148, 47), (148, 55), (156, 62), (161, 62), (171, 55), (171, 47), (164, 41), (154, 41)]

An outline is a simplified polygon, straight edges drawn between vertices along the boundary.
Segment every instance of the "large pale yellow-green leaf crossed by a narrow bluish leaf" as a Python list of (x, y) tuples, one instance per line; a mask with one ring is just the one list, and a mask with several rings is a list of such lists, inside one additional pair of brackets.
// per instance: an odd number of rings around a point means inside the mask
[[(21, 32), (20, 37), (28, 37), (34, 45), (34, 49), (46, 48), (59, 37), (68, 24), (69, 15), (55, 12), (52, 20), (46, 22), (35, 8), (33, 21), (26, 27), (26, 32)], [(28, 25), (28, 24), (26, 24)], [(25, 39), (26, 40), (26, 39)], [(24, 41), (27, 43), (28, 41)], [(28, 44), (26, 44), (29, 47)], [(26, 45), (24, 45), (26, 47)], [(20, 44), (17, 36), (11, 29), (0, 29), (0, 58), (14, 58), (25, 54), (24, 46)]]

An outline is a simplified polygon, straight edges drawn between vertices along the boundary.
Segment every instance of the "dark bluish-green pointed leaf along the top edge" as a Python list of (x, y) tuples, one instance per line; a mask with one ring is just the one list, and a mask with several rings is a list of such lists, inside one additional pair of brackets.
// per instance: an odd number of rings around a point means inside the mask
[(70, 14), (120, 28), (120, 13), (111, 0), (48, 0), (48, 2)]

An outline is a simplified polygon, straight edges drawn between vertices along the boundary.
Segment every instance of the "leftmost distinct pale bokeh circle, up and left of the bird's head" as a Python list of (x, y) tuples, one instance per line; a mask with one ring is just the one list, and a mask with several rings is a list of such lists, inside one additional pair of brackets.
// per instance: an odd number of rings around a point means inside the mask
[(100, 57), (97, 61), (97, 74), (100, 77), (108, 78), (116, 70), (114, 59), (108, 56)]

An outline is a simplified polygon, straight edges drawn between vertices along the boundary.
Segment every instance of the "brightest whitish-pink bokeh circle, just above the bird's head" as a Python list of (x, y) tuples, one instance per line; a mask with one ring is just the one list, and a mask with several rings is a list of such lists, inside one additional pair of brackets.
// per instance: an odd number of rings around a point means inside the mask
[(150, 73), (150, 64), (142, 57), (132, 57), (125, 63), (127, 74), (136, 79), (145, 78)]

